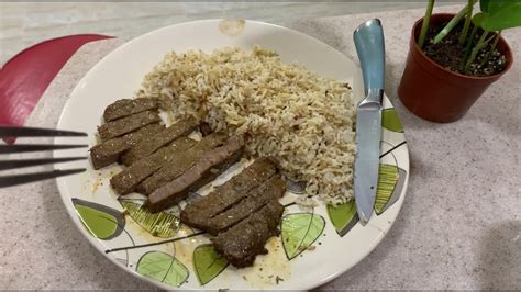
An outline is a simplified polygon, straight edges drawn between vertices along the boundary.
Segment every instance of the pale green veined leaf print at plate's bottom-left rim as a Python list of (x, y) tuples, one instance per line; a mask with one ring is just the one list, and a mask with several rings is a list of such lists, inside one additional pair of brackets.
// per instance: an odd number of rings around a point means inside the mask
[(188, 279), (188, 269), (179, 260), (163, 251), (148, 251), (137, 261), (136, 272), (146, 278), (180, 287)]

